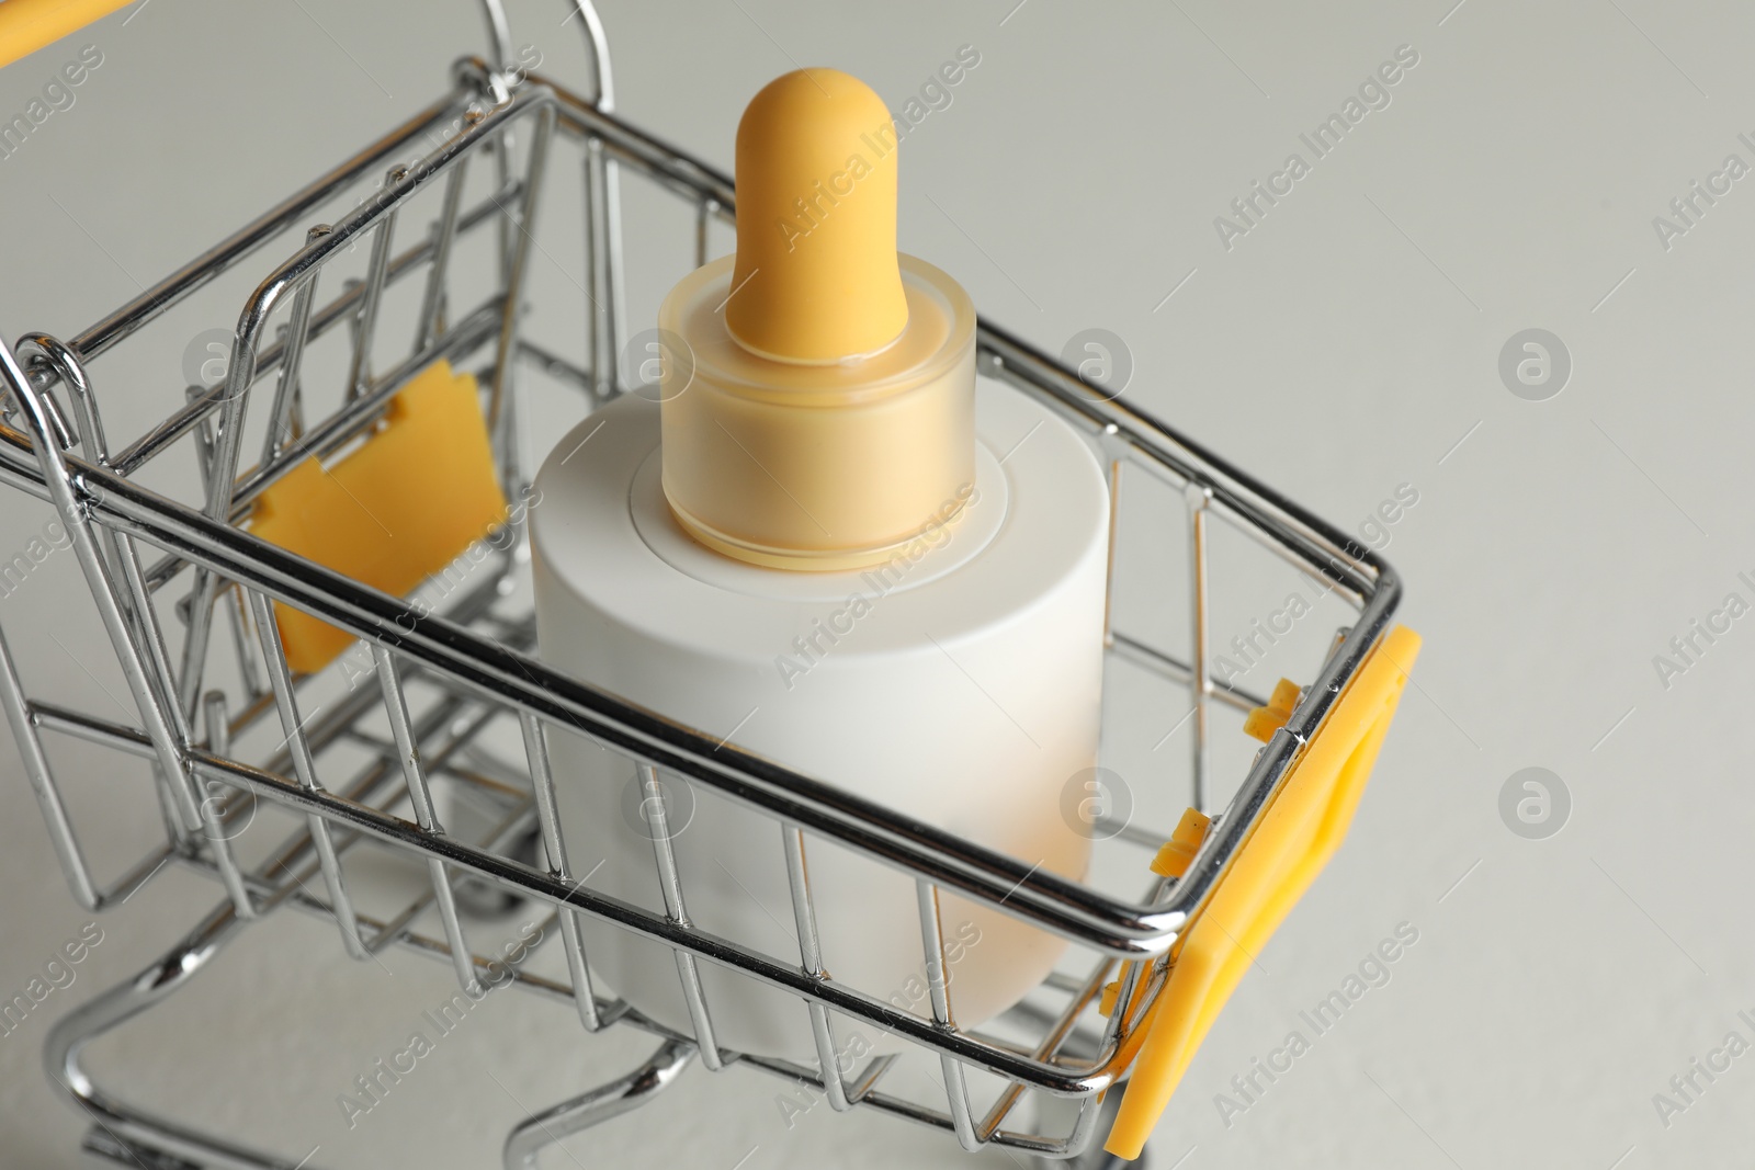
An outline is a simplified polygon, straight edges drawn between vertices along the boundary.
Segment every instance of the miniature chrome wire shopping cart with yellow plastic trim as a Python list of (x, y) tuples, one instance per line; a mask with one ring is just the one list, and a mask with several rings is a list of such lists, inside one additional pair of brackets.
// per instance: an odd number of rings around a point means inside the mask
[[(39, 19), (49, 7), (7, 5)], [(67, 32), (81, 9), (118, 4), (54, 7), (54, 21), (4, 35), (42, 44)], [(1099, 817), (1109, 826), (1099, 853), (1125, 854), (1123, 868), (1137, 872), (1143, 888), (1118, 896), (744, 754), (544, 665), (534, 656), (528, 549), (516, 516), (472, 546), (472, 570), (437, 600), (430, 581), (393, 595), (267, 542), (251, 526), (261, 500), (300, 465), (370, 446), (404, 391), (441, 365), (476, 372), (493, 475), (504, 498), (519, 498), (530, 481), (523, 432), (534, 395), (558, 388), (579, 417), (635, 381), (618, 368), (628, 365), (623, 196), (669, 207), (679, 232), (693, 230), (697, 265), (732, 223), (730, 179), (614, 114), (604, 28), (588, 0), (569, 5), (595, 67), (583, 91), (521, 70), (500, 2), (484, 7), (491, 60), (460, 61), (433, 105), (91, 328), (68, 340), (26, 333), (0, 346), (0, 481), (46, 500), (65, 524), (135, 716), (118, 723), (102, 709), (33, 696), (30, 663), (19, 663), (0, 633), (0, 703), (67, 882), (90, 910), (125, 902), (172, 863), (223, 889), (212, 914), (160, 961), (54, 1026), (51, 1077), (97, 1121), (86, 1149), (125, 1165), (291, 1165), (126, 1103), (86, 1072), (84, 1045), (176, 995), (240, 931), (293, 910), (333, 921), (353, 958), (398, 947), (449, 963), (465, 989), (479, 986), (490, 958), (469, 938), (483, 917), (470, 907), (519, 898), (546, 916), (542, 937), (563, 952), (565, 975), (519, 967), (511, 986), (563, 1003), (555, 1010), (570, 1009), (586, 1033), (644, 1030), (656, 1052), (611, 1084), (555, 1086), (558, 1103), (509, 1135), (507, 1166), (534, 1166), (544, 1145), (653, 1100), (697, 1058), (709, 1070), (755, 1068), (811, 1086), (837, 1112), (867, 1109), (935, 1126), (967, 1151), (999, 1145), (1042, 1159), (1086, 1158), (1109, 1133), (1120, 1100), (1121, 1137), (1107, 1140), (1137, 1151), (1246, 956), (1346, 828), (1416, 647), (1392, 623), (1395, 574), (1127, 395), (981, 325), (981, 375), (1057, 410), (1107, 463), (1120, 517), (1111, 577), (1127, 546), (1123, 484), (1130, 498), (1157, 491), (1178, 512), (1176, 524), (1155, 519), (1148, 531), (1160, 535), (1146, 542), (1162, 595), (1183, 616), (1148, 637), (1116, 628), (1123, 607), (1113, 603), (1106, 639), (1113, 661), (1186, 696), (1162, 707), (1181, 738), (1176, 751), (1153, 756), (1164, 770), (1153, 786), (1190, 782), (1192, 812), (1162, 831)], [(562, 165), (577, 168), (576, 188), (546, 182)], [(581, 203), (539, 216), (539, 196), (556, 202), (556, 189), (577, 191)], [(323, 225), (319, 214), (333, 221)], [(553, 314), (541, 317), (548, 335), (539, 335), (532, 268), (549, 219), (583, 233), (584, 312), (560, 328)], [(288, 258), (270, 263), (276, 254)], [(679, 247), (653, 263), (669, 265), (674, 279), (684, 261)], [(195, 384), (172, 386), (177, 370), (128, 360), (139, 351), (130, 351), (132, 340), (235, 275), (254, 291), (218, 360), (198, 365)], [(404, 302), (395, 328), (411, 326), (414, 340), (386, 361), (395, 298)], [(332, 372), (321, 353), (339, 354)], [(98, 360), (107, 361), (95, 374)], [(114, 442), (102, 409), (112, 388), (135, 400), (163, 395), (163, 421)], [(197, 482), (186, 474), (190, 456), (200, 486), (184, 488), (184, 498), (146, 486)], [(179, 460), (183, 479), (153, 477)], [(1320, 653), (1302, 663), (1302, 686), (1283, 682), (1267, 695), (1218, 670), (1225, 651), (1211, 644), (1211, 581), (1221, 544), (1239, 556), (1251, 551), (1348, 609), (1339, 633), (1325, 633)], [(1179, 568), (1165, 577), (1167, 560)], [(325, 670), (295, 668), (277, 607), (346, 631), (358, 639), (356, 651)], [(18, 630), (11, 633), (16, 640)], [(1185, 649), (1167, 649), (1183, 639)], [(349, 684), (356, 675), (369, 684), (335, 696), (339, 670)], [(332, 696), (318, 712), (312, 696), (325, 686)], [(1223, 774), (1218, 728), (1239, 721), (1244, 726), (1225, 735), (1251, 731), (1262, 746)], [(556, 795), (548, 763), (556, 733), (591, 737), (646, 765), (641, 775), (653, 777), (653, 793), (658, 775), (681, 777), (772, 817), (792, 875), (797, 949), (765, 952), (693, 926), (690, 875), (677, 870), (663, 831), (651, 835), (662, 910), (593, 891), (570, 865), (562, 833), (565, 788)], [(161, 842), (107, 884), (81, 851), (65, 777), (51, 768), (47, 742), (56, 737), (142, 761), (160, 807)], [(276, 824), (288, 833), (247, 860), (246, 840), (272, 819), (256, 817), (260, 809), (281, 810)], [(662, 817), (663, 809), (660, 800), (648, 816)], [(463, 831), (465, 823), (474, 830)], [(820, 952), (806, 867), (813, 842), (835, 842), (916, 879), (930, 981), (920, 1005), (899, 1007), (828, 974), (834, 956)], [(358, 886), (374, 854), (412, 858), (428, 888), (398, 912), (369, 912)], [(941, 891), (1065, 938), (1069, 961), (995, 1024), (958, 1024)], [(716, 963), (797, 995), (818, 1059), (723, 1049), (700, 995), (688, 1000), (691, 1031), (679, 1033), (593, 989), (584, 917), (672, 947), (679, 972)], [(846, 1068), (835, 1033), (851, 1026), (899, 1037), (907, 1052)], [(930, 1063), (932, 1093), (897, 1088), (892, 1074), (907, 1058)], [(1109, 1089), (1130, 1070), (1121, 1100)]]

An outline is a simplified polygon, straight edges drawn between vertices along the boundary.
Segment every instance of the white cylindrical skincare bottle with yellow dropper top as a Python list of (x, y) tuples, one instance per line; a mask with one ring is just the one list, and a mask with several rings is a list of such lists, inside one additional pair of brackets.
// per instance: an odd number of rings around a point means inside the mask
[[(741, 749), (1081, 879), (1067, 800), (1097, 763), (1109, 496), (1085, 442), (976, 384), (976, 314), (895, 247), (897, 137), (828, 68), (737, 132), (737, 251), (686, 275), (662, 379), (560, 440), (532, 509), (542, 656)], [(634, 761), (553, 735), (590, 886), (662, 912)], [(691, 923), (799, 958), (781, 826), (663, 777)], [(806, 835), (828, 975), (930, 1016), (914, 879)], [(951, 1002), (979, 1024), (1064, 944), (941, 893)], [(672, 952), (586, 924), (600, 991), (690, 1033)], [(792, 995), (700, 963), (720, 1045), (814, 1059)], [(862, 1051), (890, 1051), (867, 1035)]]

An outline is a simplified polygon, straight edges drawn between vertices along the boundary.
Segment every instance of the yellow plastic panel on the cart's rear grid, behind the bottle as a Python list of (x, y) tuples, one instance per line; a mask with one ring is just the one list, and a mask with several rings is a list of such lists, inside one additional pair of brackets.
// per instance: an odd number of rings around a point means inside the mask
[[(404, 596), (505, 519), (476, 379), (439, 361), (390, 402), (383, 428), (335, 467), (314, 456), (256, 498), (251, 531)], [(353, 635), (274, 605), (286, 663), (321, 670)]]

